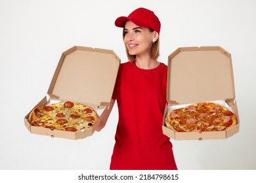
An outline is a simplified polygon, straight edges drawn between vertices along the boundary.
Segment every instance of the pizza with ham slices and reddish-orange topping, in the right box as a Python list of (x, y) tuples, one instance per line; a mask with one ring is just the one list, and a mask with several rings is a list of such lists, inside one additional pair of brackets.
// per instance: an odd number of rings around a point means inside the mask
[(236, 114), (223, 105), (195, 103), (167, 112), (165, 125), (178, 132), (224, 131), (236, 125)]

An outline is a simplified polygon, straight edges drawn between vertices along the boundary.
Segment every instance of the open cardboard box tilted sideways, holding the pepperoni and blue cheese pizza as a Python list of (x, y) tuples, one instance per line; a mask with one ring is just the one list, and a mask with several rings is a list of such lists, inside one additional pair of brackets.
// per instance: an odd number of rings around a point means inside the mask
[(63, 52), (49, 86), (48, 95), (36, 106), (72, 101), (92, 107), (99, 118), (93, 127), (81, 131), (51, 130), (30, 124), (28, 120), (30, 111), (24, 118), (28, 131), (74, 140), (83, 139), (93, 135), (95, 131), (100, 131), (111, 112), (110, 101), (119, 64), (120, 59), (112, 50), (74, 46)]

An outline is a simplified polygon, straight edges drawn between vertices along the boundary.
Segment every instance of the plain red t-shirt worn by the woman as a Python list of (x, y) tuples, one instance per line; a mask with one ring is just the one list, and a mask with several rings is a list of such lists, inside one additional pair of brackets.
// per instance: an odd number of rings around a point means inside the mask
[(140, 69), (121, 63), (113, 99), (119, 121), (110, 169), (177, 169), (169, 137), (163, 135), (167, 65)]

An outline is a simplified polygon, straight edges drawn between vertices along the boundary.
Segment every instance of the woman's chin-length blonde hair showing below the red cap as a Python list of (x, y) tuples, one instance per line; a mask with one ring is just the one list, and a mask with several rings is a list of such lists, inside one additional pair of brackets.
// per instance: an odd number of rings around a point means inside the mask
[[(150, 29), (150, 32), (153, 32), (154, 30), (153, 29)], [(124, 27), (123, 27), (123, 40), (125, 38), (125, 31), (124, 31)], [(125, 46), (125, 50), (126, 50), (126, 55), (127, 55), (127, 58), (129, 59), (129, 61), (134, 61), (136, 59), (136, 56), (135, 55), (130, 55), (129, 54), (129, 50), (128, 48)], [(152, 59), (158, 59), (158, 57), (160, 56), (160, 37), (158, 37), (158, 40), (153, 42), (151, 48), (150, 48), (150, 54), (151, 54), (151, 58)]]

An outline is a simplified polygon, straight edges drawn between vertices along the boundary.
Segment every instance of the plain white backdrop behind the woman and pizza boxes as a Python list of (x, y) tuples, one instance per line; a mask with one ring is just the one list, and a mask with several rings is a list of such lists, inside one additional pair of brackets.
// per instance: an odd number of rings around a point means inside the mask
[(160, 61), (181, 46), (232, 54), (240, 132), (224, 140), (174, 141), (179, 169), (256, 169), (256, 1), (0, 0), (0, 169), (108, 169), (117, 107), (106, 127), (77, 141), (29, 133), (24, 116), (72, 46), (114, 50), (127, 61), (118, 16), (150, 8), (161, 20)]

